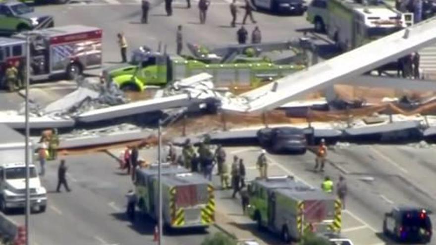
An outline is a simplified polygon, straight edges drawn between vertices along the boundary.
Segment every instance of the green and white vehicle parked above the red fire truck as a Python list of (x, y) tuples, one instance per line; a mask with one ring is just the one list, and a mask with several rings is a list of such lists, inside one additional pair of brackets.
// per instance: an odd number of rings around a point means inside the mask
[(0, 2), (0, 32), (14, 33), (54, 26), (53, 16), (35, 12), (20, 1)]

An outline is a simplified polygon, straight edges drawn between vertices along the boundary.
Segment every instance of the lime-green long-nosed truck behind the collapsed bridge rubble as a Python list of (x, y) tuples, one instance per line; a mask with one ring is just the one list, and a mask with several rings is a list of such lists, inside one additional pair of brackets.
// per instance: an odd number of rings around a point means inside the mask
[[(262, 81), (280, 78), (306, 67), (304, 53), (293, 49), (290, 42), (228, 46), (209, 50), (204, 46), (188, 46), (192, 56), (167, 54), (140, 47), (132, 53), (129, 64), (105, 69), (102, 77), (114, 81), (122, 90), (143, 91), (146, 86), (164, 86), (169, 82), (207, 72), (218, 86), (258, 86)], [(193, 48), (194, 47), (194, 48)], [(259, 56), (257, 50), (286, 49), (292, 57), (286, 62), (273, 62)], [(244, 54), (241, 54), (242, 51)], [(218, 52), (215, 53), (215, 51)]]

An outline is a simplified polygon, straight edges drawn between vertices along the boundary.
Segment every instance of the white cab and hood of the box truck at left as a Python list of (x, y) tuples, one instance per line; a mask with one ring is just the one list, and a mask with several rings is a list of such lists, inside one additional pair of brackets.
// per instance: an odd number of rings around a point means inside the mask
[[(41, 186), (35, 165), (29, 165), (30, 204), (33, 210), (44, 212), (47, 207), (47, 190)], [(0, 209), (26, 206), (26, 165), (5, 163), (0, 166)]]

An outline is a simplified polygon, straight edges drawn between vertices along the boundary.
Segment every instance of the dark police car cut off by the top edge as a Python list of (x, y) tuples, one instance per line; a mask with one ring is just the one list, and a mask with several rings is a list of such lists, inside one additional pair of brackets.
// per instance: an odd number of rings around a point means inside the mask
[(307, 10), (304, 0), (253, 0), (256, 8), (269, 10), (276, 13), (291, 13), (303, 15)]

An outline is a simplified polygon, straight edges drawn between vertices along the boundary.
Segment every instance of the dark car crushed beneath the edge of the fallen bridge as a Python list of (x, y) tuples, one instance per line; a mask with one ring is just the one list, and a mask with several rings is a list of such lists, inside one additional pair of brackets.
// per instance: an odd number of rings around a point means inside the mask
[(304, 131), (293, 127), (264, 128), (257, 132), (259, 144), (273, 152), (306, 153), (307, 140)]

